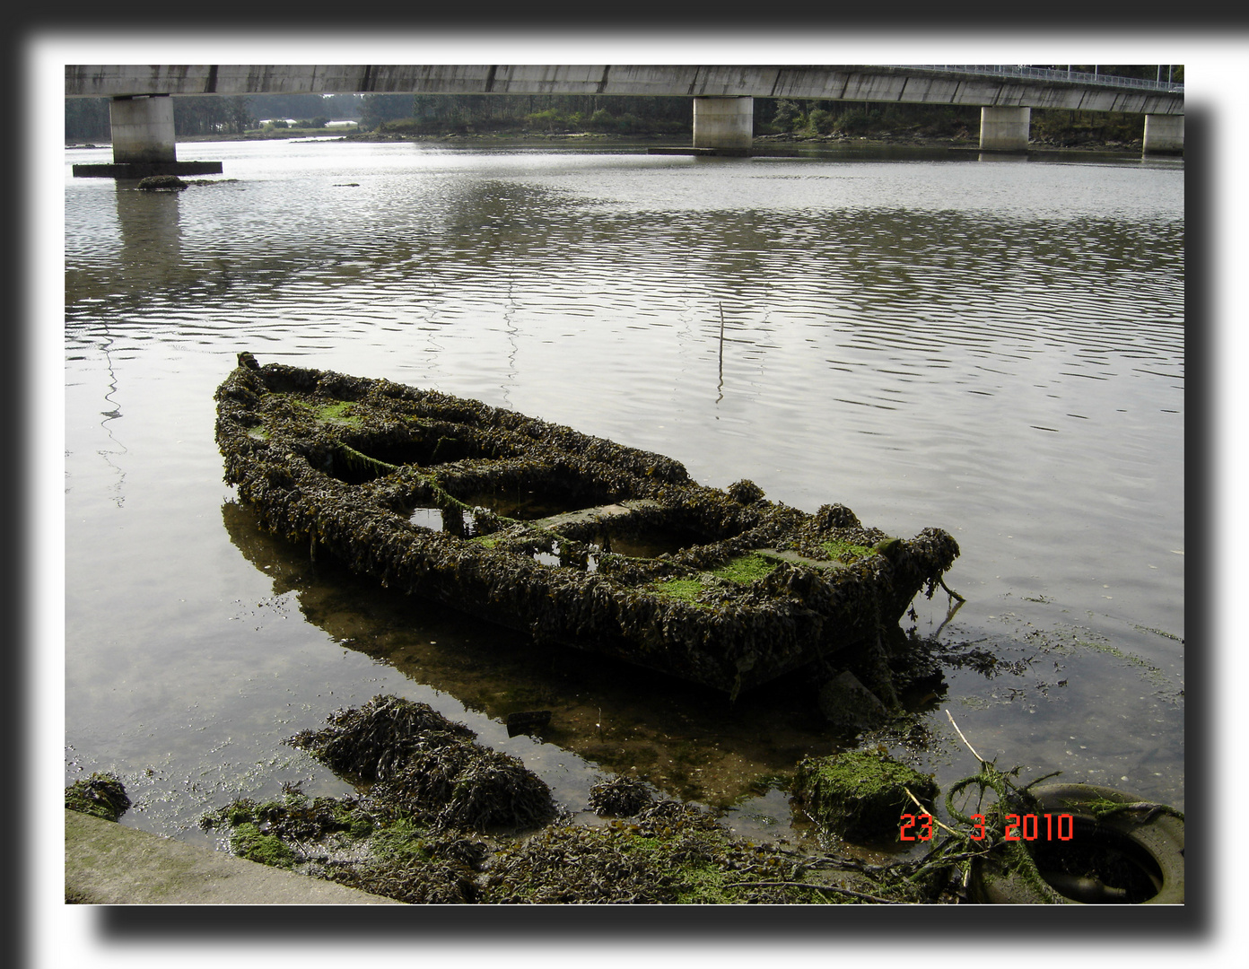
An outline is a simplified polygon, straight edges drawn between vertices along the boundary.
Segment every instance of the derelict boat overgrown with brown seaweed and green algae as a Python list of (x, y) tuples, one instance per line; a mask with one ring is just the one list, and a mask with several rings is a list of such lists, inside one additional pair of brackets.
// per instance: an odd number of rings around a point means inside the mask
[(883, 633), (958, 556), (386, 380), (240, 353), (216, 401), (226, 481), (313, 556), (731, 697), (824, 658), (888, 699)]

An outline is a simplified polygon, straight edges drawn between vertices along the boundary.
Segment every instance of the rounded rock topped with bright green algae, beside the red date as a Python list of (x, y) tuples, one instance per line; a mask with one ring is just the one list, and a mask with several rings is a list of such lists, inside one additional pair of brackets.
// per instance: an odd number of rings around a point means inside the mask
[(931, 812), (936, 782), (876, 750), (808, 757), (794, 777), (794, 795), (812, 820), (851, 839), (897, 840), (899, 817), (918, 810), (908, 789)]

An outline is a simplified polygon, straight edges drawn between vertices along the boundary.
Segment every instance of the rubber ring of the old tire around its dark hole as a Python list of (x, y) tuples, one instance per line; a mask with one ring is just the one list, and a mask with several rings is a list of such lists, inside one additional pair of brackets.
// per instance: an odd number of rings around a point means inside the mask
[[(1083, 832), (1084, 837), (1130, 845), (1139, 857), (1153, 859), (1157, 870), (1152, 870), (1149, 877), (1157, 883), (1158, 892), (1138, 904), (1184, 904), (1184, 822), (1180, 818), (1159, 812), (1152, 819), (1142, 820), (1142, 812), (1122, 812), (1099, 822), (1088, 808), (1090, 800), (1133, 804), (1142, 799), (1095, 784), (1049, 784), (1030, 793), (1040, 802), (1042, 810), (1074, 815), (1079, 825), (1077, 830)], [(1032, 845), (1024, 842), (1024, 847)], [(1008, 870), (993, 855), (973, 863), (968, 894), (973, 902), (997, 905), (1045, 904), (1054, 900), (1043, 889)], [(1084, 904), (1058, 889), (1055, 895), (1062, 904)]]

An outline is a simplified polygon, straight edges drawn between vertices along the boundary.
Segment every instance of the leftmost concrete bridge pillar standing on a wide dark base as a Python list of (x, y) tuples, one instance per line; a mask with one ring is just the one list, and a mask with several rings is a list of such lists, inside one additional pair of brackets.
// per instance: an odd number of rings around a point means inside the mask
[(210, 175), (220, 161), (179, 161), (174, 99), (169, 95), (114, 97), (109, 104), (112, 165), (75, 165), (75, 176), (145, 179), (149, 175)]

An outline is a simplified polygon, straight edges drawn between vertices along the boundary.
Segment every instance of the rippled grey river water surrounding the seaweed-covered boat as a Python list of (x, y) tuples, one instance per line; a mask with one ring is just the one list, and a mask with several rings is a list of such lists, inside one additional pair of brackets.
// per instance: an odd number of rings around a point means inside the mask
[[(916, 632), (1014, 666), (950, 671), (883, 742), (942, 783), (974, 773), (948, 711), (999, 767), (1184, 807), (1183, 162), (180, 155), (225, 172), (149, 194), (71, 176), (107, 150), (65, 155), (65, 778), (117, 773), (124, 824), (212, 843), (197, 818), (236, 797), (347, 792), (282, 739), (378, 693), (523, 758), (587, 822), (590, 784), (623, 772), (806, 838), (783, 778), (844, 743), (793, 682), (729, 709), (531, 654), (265, 534), (214, 442), (241, 350), (945, 528), (967, 602), (944, 622), (921, 598)], [(508, 738), (535, 707), (550, 730)]]

